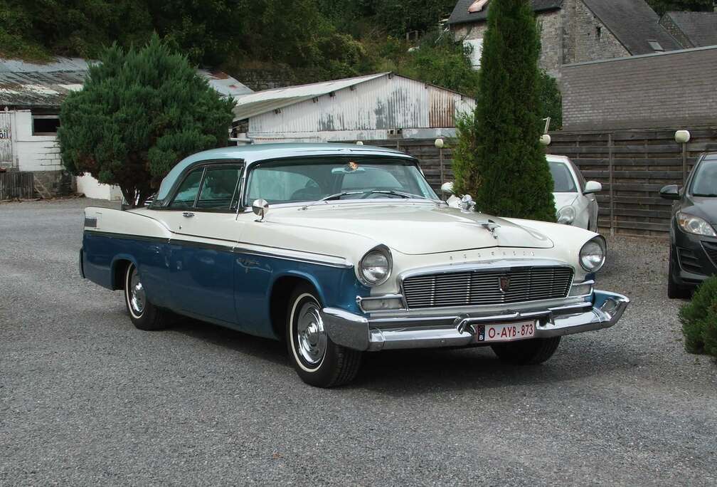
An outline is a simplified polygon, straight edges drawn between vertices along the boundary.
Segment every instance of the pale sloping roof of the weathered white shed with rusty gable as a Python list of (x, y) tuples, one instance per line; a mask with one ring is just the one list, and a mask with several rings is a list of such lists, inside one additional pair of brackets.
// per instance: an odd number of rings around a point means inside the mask
[(275, 88), (273, 90), (252, 93), (251, 95), (242, 95), (234, 98), (237, 103), (237, 106), (234, 107), (234, 118), (236, 120), (244, 120), (244, 118), (278, 110), (317, 96), (328, 95), (334, 91), (350, 88), (362, 82), (375, 80), (378, 77), (387, 76), (389, 74), (389, 72), (379, 72), (375, 75), (349, 77), (343, 80), (289, 86), (287, 88)]

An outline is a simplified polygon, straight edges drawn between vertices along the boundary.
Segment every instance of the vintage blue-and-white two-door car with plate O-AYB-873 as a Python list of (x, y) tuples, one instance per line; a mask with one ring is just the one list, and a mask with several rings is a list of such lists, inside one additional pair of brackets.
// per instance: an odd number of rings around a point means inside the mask
[(625, 311), (594, 290), (605, 254), (587, 230), (448, 207), (404, 153), (266, 144), (184, 159), (149, 207), (87, 208), (80, 271), (123, 290), (138, 328), (179, 314), (285, 339), (300, 377), (330, 387), (364, 351), (546, 361)]

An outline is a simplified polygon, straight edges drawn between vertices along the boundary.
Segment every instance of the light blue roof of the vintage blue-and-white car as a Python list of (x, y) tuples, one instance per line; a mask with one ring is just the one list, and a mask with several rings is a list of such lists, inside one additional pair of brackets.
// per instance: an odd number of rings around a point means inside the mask
[(300, 156), (391, 156), (414, 159), (407, 153), (391, 148), (358, 146), (352, 143), (260, 143), (247, 146), (231, 146), (209, 149), (192, 154), (179, 161), (162, 180), (157, 199), (167, 197), (175, 181), (184, 171), (204, 161), (243, 161), (252, 164), (268, 159)]

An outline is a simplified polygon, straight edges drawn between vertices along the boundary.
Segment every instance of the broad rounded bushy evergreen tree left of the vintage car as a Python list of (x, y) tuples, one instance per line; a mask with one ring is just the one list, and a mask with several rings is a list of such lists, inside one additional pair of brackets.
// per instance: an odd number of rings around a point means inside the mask
[(62, 103), (62, 161), (143, 202), (181, 159), (226, 145), (233, 106), (157, 36), (141, 49), (115, 45)]

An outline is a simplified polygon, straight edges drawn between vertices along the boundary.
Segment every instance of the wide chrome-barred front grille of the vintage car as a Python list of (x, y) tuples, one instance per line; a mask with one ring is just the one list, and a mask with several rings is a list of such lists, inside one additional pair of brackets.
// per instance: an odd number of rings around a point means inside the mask
[(573, 269), (564, 266), (467, 270), (404, 279), (409, 308), (447, 308), (565, 298)]

